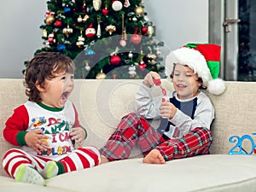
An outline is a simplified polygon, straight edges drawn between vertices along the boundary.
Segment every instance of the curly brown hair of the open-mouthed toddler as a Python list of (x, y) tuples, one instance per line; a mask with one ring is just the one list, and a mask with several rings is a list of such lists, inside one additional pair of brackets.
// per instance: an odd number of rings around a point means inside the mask
[(44, 80), (54, 79), (55, 73), (74, 73), (73, 61), (60, 52), (40, 52), (27, 63), (24, 84), (29, 101), (41, 102), (36, 84), (44, 87)]

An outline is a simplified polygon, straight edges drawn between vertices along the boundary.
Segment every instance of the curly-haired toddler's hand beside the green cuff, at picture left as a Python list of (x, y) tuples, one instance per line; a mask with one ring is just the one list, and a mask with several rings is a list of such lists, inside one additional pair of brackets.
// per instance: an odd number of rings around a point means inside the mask
[(48, 143), (44, 142), (44, 139), (48, 139), (47, 136), (42, 135), (43, 130), (28, 131), (25, 135), (25, 142), (28, 147), (34, 149), (38, 154), (42, 154), (42, 151), (47, 151), (49, 147)]

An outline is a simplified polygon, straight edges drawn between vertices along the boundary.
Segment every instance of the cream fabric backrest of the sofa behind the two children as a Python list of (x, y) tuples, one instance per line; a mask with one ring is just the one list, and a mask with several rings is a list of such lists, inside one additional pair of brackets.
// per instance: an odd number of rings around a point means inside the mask
[[(13, 110), (27, 101), (22, 79), (0, 79), (0, 130), (3, 132), (6, 119)], [(101, 148), (113, 133), (119, 120), (126, 114), (135, 112), (134, 95), (142, 84), (141, 79), (76, 79), (70, 100), (79, 112), (79, 119), (88, 131), (84, 145), (95, 145)], [(163, 80), (163, 86), (173, 90), (172, 82)], [(226, 82), (226, 91), (221, 96), (210, 96), (216, 110), (216, 118), (212, 124), (214, 142), (211, 154), (229, 154), (231, 136), (253, 136), (256, 127), (256, 83)], [(160, 88), (155, 87), (152, 96), (159, 96)], [(159, 122), (154, 121), (157, 125)], [(252, 142), (245, 139), (243, 148), (252, 150)], [(0, 158), (14, 146), (6, 143), (3, 133), (0, 135)], [(136, 148), (131, 157), (141, 156)], [(0, 175), (5, 175), (1, 164)]]

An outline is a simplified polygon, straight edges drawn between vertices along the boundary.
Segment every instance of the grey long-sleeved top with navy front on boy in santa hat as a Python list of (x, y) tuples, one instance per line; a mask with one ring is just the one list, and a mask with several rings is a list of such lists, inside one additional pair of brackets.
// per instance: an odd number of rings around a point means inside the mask
[[(149, 88), (143, 85), (137, 91), (137, 113), (143, 115), (146, 119), (161, 119), (160, 105), (162, 102), (162, 96), (153, 97), (152, 90), (153, 87)], [(161, 119), (160, 126), (166, 125), (166, 128), (161, 127), (161, 129), (158, 130), (164, 130), (164, 134), (169, 138), (180, 138), (196, 127), (205, 127), (210, 129), (212, 120), (214, 119), (214, 108), (210, 98), (205, 93), (200, 92), (197, 96), (187, 100), (178, 99), (176, 91), (172, 93), (167, 92), (167, 95), (171, 98), (170, 101), (175, 97), (180, 108), (177, 108), (177, 113), (172, 117), (172, 119)], [(190, 103), (189, 105), (193, 112), (191, 111), (188, 113), (188, 103)]]

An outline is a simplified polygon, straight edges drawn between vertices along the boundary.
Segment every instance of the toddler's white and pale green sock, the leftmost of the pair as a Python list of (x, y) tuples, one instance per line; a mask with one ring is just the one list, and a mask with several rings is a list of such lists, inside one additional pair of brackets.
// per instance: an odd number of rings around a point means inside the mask
[(32, 166), (21, 164), (15, 172), (15, 181), (21, 183), (32, 183), (45, 186), (45, 180)]

